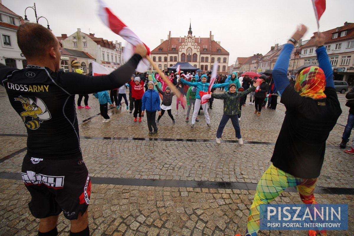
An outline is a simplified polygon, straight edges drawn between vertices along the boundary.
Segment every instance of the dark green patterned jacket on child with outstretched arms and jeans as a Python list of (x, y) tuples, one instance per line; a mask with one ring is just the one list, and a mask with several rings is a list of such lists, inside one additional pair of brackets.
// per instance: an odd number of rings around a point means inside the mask
[(240, 97), (249, 94), (252, 91), (255, 91), (255, 86), (249, 87), (243, 92), (225, 92), (225, 93), (213, 93), (211, 97), (216, 99), (224, 99), (224, 114), (225, 115), (238, 115), (240, 113)]

